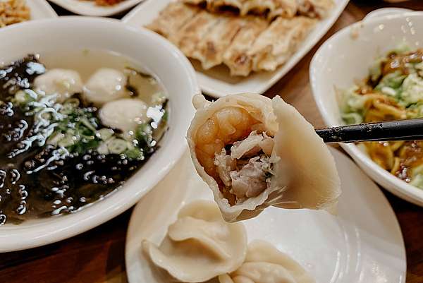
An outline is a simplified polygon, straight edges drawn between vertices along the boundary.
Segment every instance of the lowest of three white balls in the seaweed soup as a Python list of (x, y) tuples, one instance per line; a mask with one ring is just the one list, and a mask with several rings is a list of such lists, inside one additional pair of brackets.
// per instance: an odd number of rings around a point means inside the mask
[(105, 126), (134, 131), (138, 124), (147, 122), (147, 109), (147, 104), (142, 100), (123, 98), (104, 104), (99, 117)]

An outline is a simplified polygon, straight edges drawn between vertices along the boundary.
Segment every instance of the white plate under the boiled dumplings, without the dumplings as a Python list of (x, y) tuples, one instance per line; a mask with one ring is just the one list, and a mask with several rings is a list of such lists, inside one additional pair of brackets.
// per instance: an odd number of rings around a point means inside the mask
[[(397, 219), (379, 188), (341, 152), (331, 149), (341, 176), (338, 217), (311, 210), (269, 207), (245, 222), (248, 240), (263, 239), (297, 260), (317, 283), (405, 282), (405, 248)], [(125, 246), (130, 283), (161, 282), (141, 251), (141, 240), (160, 243), (182, 205), (212, 193), (188, 153), (137, 204)]]

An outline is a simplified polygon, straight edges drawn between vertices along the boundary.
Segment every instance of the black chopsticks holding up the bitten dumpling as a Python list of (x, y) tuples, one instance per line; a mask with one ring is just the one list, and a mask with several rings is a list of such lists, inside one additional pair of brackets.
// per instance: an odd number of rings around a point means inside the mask
[(325, 143), (423, 140), (423, 118), (319, 128), (316, 133)]

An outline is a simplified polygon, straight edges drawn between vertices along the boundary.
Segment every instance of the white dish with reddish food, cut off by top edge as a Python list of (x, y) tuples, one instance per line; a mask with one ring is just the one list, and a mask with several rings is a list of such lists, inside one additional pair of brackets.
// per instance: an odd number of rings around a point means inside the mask
[[(32, 1), (32, 0), (30, 0)], [(90, 0), (49, 0), (66, 10), (82, 16), (107, 17), (132, 8), (142, 0), (124, 0), (113, 6), (98, 6)]]

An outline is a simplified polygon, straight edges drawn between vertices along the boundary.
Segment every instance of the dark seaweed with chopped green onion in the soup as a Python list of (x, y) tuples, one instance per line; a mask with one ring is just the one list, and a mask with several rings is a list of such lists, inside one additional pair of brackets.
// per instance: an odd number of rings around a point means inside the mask
[[(32, 90), (45, 71), (35, 55), (0, 69), (0, 225), (75, 212), (103, 198), (151, 157), (167, 128), (162, 99), (125, 140), (80, 95), (59, 104)], [(104, 146), (109, 150), (99, 152)]]

